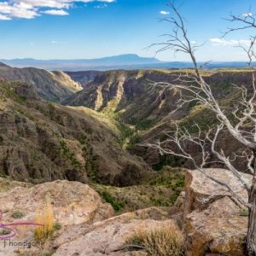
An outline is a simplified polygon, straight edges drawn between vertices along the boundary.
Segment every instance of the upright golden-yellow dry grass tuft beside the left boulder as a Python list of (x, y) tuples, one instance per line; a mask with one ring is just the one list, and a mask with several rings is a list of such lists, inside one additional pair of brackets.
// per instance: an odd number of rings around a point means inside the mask
[(52, 205), (48, 197), (45, 199), (44, 207), (37, 209), (36, 222), (44, 226), (38, 226), (35, 230), (35, 240), (44, 242), (53, 235), (55, 231), (55, 217)]

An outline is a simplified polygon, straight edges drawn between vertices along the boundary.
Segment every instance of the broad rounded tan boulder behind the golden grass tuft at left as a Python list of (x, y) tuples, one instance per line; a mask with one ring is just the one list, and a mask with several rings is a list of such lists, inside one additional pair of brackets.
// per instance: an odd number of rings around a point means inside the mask
[(35, 221), (36, 211), (44, 207), (46, 198), (52, 204), (55, 221), (62, 225), (91, 224), (113, 216), (113, 208), (102, 203), (100, 195), (88, 185), (58, 180), (1, 193), (4, 222), (14, 221), (12, 216), (17, 211), (22, 212), (20, 220)]

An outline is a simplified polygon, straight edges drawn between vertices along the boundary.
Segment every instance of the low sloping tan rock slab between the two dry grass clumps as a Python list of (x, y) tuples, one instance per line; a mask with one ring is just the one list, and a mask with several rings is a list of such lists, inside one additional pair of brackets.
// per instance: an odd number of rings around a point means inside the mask
[[(73, 241), (67, 241), (62, 244), (54, 255), (131, 255), (131, 253), (125, 252), (125, 244), (137, 230), (148, 230), (149, 232), (155, 228), (175, 223), (173, 219), (161, 219), (163, 216), (161, 216), (160, 212), (156, 215), (160, 219), (154, 219), (152, 215), (150, 216), (150, 212), (157, 212), (157, 210), (152, 208), (128, 212), (118, 217), (92, 224), (89, 231)], [(60, 245), (62, 239), (61, 236), (58, 238), (58, 245)]]

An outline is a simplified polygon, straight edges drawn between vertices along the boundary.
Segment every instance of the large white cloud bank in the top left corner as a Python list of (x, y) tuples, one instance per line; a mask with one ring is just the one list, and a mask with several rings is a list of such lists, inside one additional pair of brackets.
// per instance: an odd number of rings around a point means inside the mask
[[(6, 0), (0, 2), (0, 20), (12, 20), (14, 18), (33, 19), (40, 14), (68, 15), (67, 9), (75, 3), (102, 3), (98, 8), (106, 7), (105, 4), (115, 0)], [(49, 8), (49, 10), (44, 10)]]

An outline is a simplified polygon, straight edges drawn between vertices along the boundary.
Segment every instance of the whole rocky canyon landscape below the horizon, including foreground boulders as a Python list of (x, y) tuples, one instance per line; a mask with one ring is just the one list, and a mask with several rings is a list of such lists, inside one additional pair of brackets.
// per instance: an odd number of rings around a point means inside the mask
[[(125, 249), (129, 236), (138, 228), (150, 232), (171, 225), (183, 231), (187, 256), (243, 255), (246, 210), (225, 189), (189, 171), (193, 169), (189, 160), (160, 154), (146, 145), (165, 139), (166, 132), (175, 131), (176, 122), (192, 134), (195, 123), (204, 132), (218, 122), (196, 102), (180, 105), (180, 90), (153, 86), (172, 83), (180, 73), (191, 70), (64, 73), (1, 64), (3, 221), (12, 222), (16, 211), (24, 212), (21, 221), (34, 221), (36, 208), (44, 205), (47, 195), (55, 222), (61, 224), (51, 242), (28, 251), (19, 248), (19, 253), (147, 255), (144, 249)], [(247, 69), (201, 73), (228, 115), (241, 96), (239, 88), (249, 89), (251, 83)], [(198, 148), (187, 147), (199, 160)], [(218, 147), (230, 156), (244, 150), (225, 132)], [(211, 160), (215, 161), (213, 155)], [(246, 163), (234, 163), (246, 171)], [(208, 167), (207, 172), (220, 179), (229, 175), (218, 163)], [(251, 177), (243, 175), (250, 182)], [(234, 177), (229, 184), (239, 187)], [(245, 191), (241, 197), (247, 200)], [(17, 229), (18, 241), (33, 241), (31, 228)], [(100, 246), (96, 241), (101, 241)], [(15, 255), (13, 249), (4, 253)]]

